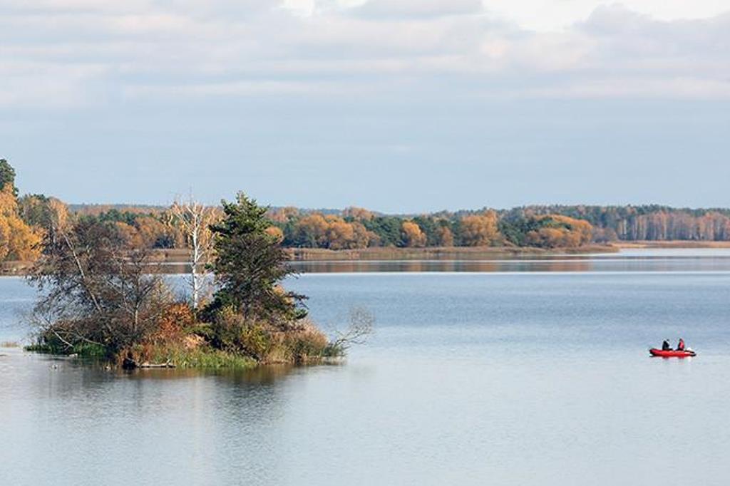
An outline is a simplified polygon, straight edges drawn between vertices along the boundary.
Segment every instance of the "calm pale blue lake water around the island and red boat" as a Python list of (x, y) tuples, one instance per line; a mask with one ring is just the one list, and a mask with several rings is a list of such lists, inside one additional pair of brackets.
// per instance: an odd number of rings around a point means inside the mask
[[(341, 366), (123, 374), (0, 350), (0, 484), (725, 485), (730, 253), (679, 253), (303, 274), (324, 327), (376, 316)], [(32, 298), (0, 279), (0, 341)], [(648, 357), (680, 335), (697, 358)]]

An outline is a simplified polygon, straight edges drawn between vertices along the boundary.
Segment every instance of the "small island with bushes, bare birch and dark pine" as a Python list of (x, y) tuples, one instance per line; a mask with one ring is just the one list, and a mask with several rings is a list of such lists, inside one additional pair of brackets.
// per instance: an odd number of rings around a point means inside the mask
[[(52, 215), (42, 252), (28, 274), (39, 290), (31, 350), (111, 360), (137, 367), (248, 368), (262, 363), (320, 363), (341, 357), (369, 332), (360, 317), (336, 339), (307, 317), (305, 296), (281, 286), (292, 274), (288, 255), (267, 232), (266, 209), (239, 193), (220, 218), (196, 205), (186, 218), (199, 264), (192, 295), (176, 298), (150, 258), (113, 224)], [(207, 290), (215, 288), (208, 294)]]

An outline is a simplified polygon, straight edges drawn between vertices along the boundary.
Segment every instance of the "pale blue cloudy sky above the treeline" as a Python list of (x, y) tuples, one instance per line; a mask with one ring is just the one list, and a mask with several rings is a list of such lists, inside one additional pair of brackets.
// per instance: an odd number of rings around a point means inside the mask
[(730, 207), (727, 0), (0, 0), (0, 32), (23, 193)]

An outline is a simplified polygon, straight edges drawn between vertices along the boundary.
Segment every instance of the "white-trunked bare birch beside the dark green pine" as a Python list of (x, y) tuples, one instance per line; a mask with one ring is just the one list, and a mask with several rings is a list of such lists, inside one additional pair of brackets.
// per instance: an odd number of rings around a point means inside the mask
[(201, 289), (207, 276), (206, 265), (210, 262), (213, 247), (213, 235), (210, 225), (218, 219), (214, 207), (206, 207), (191, 196), (187, 201), (176, 200), (170, 208), (174, 223), (180, 226), (190, 250), (191, 300), (193, 309), (200, 303)]

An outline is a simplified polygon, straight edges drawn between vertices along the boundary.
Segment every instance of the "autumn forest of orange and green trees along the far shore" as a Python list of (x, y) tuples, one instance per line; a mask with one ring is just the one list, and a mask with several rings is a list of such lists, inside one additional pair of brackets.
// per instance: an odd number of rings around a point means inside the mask
[[(0, 261), (32, 261), (39, 242), (66, 220), (113, 226), (134, 247), (186, 249), (184, 218), (170, 207), (64, 204), (52, 196), (20, 196), (15, 170), (0, 159)], [(212, 222), (222, 215), (210, 208)], [(730, 209), (647, 206), (527, 206), (423, 215), (385, 215), (358, 207), (272, 207), (266, 230), (283, 247), (577, 248), (615, 241), (729, 241)]]

